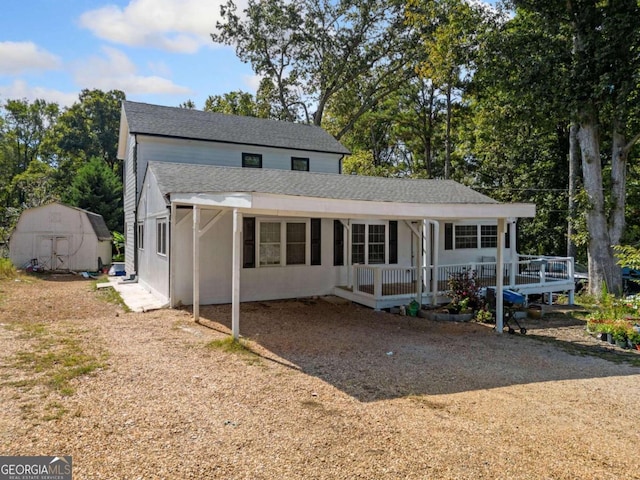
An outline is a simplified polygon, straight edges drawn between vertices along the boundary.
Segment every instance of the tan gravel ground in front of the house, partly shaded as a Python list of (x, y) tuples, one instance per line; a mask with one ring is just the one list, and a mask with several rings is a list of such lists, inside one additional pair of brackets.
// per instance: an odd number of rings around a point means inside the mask
[[(567, 309), (497, 335), (249, 303), (251, 352), (229, 352), (211, 345), (228, 305), (195, 324), (101, 295), (71, 276), (0, 281), (2, 455), (71, 455), (75, 479), (640, 479), (640, 355)], [(56, 387), (70, 345), (98, 367)]]

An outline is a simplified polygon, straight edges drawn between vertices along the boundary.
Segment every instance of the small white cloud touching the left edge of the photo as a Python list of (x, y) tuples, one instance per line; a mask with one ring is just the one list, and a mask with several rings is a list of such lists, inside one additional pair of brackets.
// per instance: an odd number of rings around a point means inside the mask
[(0, 75), (19, 75), (33, 70), (54, 70), (61, 61), (33, 42), (0, 42)]

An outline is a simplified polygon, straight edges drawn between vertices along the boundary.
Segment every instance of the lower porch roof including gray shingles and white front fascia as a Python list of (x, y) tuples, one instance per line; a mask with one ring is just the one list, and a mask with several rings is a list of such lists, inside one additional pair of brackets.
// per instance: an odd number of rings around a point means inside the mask
[(150, 162), (170, 201), (334, 218), (532, 217), (535, 205), (500, 203), (453, 180), (381, 178)]

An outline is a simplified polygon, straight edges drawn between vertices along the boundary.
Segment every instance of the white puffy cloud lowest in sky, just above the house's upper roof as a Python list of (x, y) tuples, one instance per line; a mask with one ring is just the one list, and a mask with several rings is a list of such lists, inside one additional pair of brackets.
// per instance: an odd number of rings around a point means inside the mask
[(120, 50), (103, 47), (104, 56), (93, 56), (74, 66), (74, 79), (81, 88), (122, 90), (128, 95), (137, 94), (189, 94), (187, 87), (157, 75), (145, 76)]

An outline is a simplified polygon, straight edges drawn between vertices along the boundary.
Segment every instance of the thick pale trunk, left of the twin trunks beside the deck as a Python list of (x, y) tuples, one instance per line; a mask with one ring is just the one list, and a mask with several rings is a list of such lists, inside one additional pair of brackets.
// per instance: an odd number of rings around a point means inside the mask
[(619, 294), (622, 279), (611, 247), (604, 193), (602, 191), (602, 165), (600, 164), (600, 139), (593, 115), (585, 117), (578, 130), (582, 153), (584, 188), (589, 199), (587, 228), (589, 230), (589, 291), (600, 295), (607, 291)]

